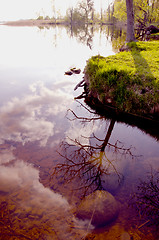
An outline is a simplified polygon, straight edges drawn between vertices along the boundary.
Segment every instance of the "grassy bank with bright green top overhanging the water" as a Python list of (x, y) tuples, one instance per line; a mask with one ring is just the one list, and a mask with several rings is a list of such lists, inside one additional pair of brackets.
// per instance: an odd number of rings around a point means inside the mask
[(159, 116), (159, 42), (132, 42), (127, 51), (88, 60), (90, 93), (119, 111)]

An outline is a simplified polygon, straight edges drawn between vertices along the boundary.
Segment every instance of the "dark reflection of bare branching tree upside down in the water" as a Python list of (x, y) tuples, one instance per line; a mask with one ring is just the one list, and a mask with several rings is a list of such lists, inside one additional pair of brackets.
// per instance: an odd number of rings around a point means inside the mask
[[(81, 104), (82, 105), (82, 104)], [(83, 106), (83, 105), (82, 105)], [(85, 107), (85, 106), (83, 106)], [(86, 107), (85, 107), (86, 108)], [(89, 111), (89, 110), (88, 110)], [(68, 110), (72, 114), (70, 120), (80, 120), (82, 123), (98, 120), (102, 117), (79, 117), (72, 110)], [(116, 141), (115, 144), (109, 142), (115, 120), (111, 120), (106, 136), (104, 139), (99, 139), (95, 135), (86, 138), (89, 144), (82, 144), (77, 139), (69, 139), (72, 144), (62, 142), (59, 154), (64, 158), (64, 162), (59, 163), (54, 168), (53, 176), (62, 176), (65, 182), (71, 182), (76, 177), (80, 178), (80, 187), (84, 190), (84, 195), (90, 190), (103, 189), (103, 177), (115, 174), (120, 184), (123, 176), (118, 172), (115, 166), (115, 161), (107, 157), (106, 148), (113, 151), (115, 154), (132, 155), (131, 147), (124, 148), (123, 144)], [(91, 143), (94, 140), (96, 144)]]

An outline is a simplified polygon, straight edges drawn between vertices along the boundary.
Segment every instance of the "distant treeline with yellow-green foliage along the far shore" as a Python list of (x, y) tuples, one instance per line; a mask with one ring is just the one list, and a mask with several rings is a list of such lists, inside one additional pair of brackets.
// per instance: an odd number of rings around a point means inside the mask
[[(68, 24), (92, 24), (92, 23), (126, 23), (126, 1), (115, 0), (107, 7), (101, 6), (100, 12), (94, 7), (94, 0), (82, 0), (76, 7), (70, 7), (65, 16), (55, 10), (53, 6), (53, 16), (39, 16), (39, 20), (52, 20), (53, 22), (65, 22)], [(146, 26), (150, 23), (159, 22), (159, 1), (158, 0), (134, 0), (135, 24)]]

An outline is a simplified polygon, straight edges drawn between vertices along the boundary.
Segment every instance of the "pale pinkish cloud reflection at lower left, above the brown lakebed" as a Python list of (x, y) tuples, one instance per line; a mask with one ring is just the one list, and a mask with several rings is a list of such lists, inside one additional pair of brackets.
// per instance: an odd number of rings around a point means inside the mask
[[(9, 161), (9, 159), (8, 159)], [(30, 202), (19, 199), (23, 205), (42, 205), (69, 208), (69, 204), (60, 194), (45, 188), (39, 182), (39, 171), (23, 161), (16, 161), (11, 166), (0, 166), (0, 191), (12, 193), (25, 188)]]

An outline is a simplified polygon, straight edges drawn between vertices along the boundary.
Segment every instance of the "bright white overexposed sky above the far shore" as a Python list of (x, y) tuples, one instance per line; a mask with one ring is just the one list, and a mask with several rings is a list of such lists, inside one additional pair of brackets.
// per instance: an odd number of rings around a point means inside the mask
[[(0, 0), (0, 21), (37, 18), (39, 15), (53, 15), (53, 2), (62, 15), (66, 9), (75, 6), (79, 0)], [(95, 9), (107, 6), (112, 0), (95, 0)]]

